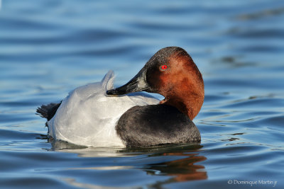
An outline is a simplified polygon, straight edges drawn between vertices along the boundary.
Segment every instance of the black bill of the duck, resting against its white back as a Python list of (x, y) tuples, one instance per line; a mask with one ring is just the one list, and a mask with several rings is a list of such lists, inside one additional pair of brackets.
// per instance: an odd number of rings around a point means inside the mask
[(107, 95), (123, 95), (126, 93), (133, 93), (138, 91), (148, 91), (148, 84), (146, 81), (146, 71), (139, 71), (127, 84), (118, 88), (107, 91)]

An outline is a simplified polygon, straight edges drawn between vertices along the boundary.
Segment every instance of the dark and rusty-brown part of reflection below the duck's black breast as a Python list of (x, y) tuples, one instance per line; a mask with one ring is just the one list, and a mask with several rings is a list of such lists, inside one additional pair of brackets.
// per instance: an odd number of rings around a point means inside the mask
[[(202, 146), (197, 144), (160, 149), (155, 154), (149, 155), (149, 157), (163, 156), (163, 159), (173, 159), (173, 157), (177, 159), (158, 164), (148, 164), (145, 170), (148, 174), (173, 176), (162, 183), (159, 182), (158, 185), (207, 179), (207, 171), (205, 167), (200, 164), (207, 158), (200, 156), (200, 148), (202, 148)], [(168, 158), (164, 158), (165, 156), (168, 156)]]

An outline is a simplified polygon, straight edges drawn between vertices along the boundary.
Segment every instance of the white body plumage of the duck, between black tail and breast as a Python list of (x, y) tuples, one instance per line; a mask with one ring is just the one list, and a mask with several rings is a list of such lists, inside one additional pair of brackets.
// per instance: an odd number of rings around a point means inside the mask
[(114, 88), (113, 84), (114, 73), (109, 71), (102, 82), (71, 91), (48, 121), (50, 136), (87, 147), (124, 147), (115, 130), (121, 115), (135, 105), (151, 105), (159, 101), (143, 93), (107, 96), (106, 91)]

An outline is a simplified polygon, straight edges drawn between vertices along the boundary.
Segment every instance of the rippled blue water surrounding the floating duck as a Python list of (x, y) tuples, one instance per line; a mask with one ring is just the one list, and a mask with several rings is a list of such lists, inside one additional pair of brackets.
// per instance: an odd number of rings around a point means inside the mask
[[(2, 1), (0, 188), (283, 188), (283, 1)], [(160, 48), (204, 76), (200, 145), (52, 144), (35, 109)]]

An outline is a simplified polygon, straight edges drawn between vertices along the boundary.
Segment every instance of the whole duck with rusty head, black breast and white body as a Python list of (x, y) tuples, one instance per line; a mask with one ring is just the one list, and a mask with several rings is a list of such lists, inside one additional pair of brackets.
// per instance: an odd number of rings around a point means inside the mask
[[(163, 100), (149, 93), (158, 93)], [(200, 143), (192, 120), (204, 101), (204, 81), (181, 47), (164, 47), (138, 74), (114, 88), (114, 71), (80, 86), (60, 103), (41, 105), (48, 137), (87, 147), (150, 147)]]

